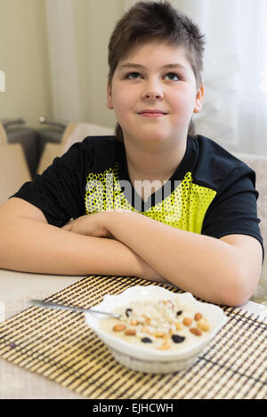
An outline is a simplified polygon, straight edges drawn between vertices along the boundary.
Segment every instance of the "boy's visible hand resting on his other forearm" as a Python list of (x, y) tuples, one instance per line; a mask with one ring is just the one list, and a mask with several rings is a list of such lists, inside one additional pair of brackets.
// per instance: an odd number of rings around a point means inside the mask
[(86, 214), (78, 217), (74, 221), (69, 221), (62, 227), (69, 232), (77, 233), (77, 235), (85, 235), (91, 237), (113, 237), (106, 227), (107, 216), (105, 212)]

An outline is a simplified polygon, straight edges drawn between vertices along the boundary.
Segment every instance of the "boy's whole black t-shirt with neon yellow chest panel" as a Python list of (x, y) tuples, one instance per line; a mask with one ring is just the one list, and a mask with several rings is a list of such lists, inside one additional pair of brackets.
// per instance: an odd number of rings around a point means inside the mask
[(200, 135), (188, 137), (172, 178), (148, 201), (131, 184), (124, 143), (114, 136), (88, 137), (74, 144), (14, 196), (36, 205), (58, 227), (86, 213), (124, 208), (210, 237), (252, 236), (263, 247), (255, 172)]

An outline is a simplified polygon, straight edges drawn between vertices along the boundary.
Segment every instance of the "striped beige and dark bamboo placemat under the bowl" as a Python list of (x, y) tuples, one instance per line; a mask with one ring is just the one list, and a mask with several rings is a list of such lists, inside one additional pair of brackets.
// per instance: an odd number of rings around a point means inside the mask
[[(133, 277), (85, 277), (47, 301), (83, 308), (133, 285), (172, 285)], [(85, 397), (98, 399), (266, 398), (267, 320), (221, 306), (223, 329), (189, 369), (166, 375), (134, 372), (117, 361), (83, 314), (29, 307), (0, 324), (0, 356)]]

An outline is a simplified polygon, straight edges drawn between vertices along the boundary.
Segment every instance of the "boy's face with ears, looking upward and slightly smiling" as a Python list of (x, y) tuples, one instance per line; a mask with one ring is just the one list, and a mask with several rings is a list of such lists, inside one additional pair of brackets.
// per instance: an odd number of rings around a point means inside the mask
[[(118, 62), (108, 85), (108, 108), (114, 109), (125, 140), (150, 147), (185, 139), (193, 112), (202, 107), (203, 94), (184, 49), (153, 41), (137, 46)], [(143, 113), (146, 109), (162, 113)]]

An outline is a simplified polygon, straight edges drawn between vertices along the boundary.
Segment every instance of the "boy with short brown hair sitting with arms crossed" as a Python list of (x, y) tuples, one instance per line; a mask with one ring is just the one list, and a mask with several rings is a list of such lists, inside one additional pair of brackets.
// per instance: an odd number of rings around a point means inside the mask
[(109, 41), (116, 137), (75, 144), (3, 204), (1, 268), (137, 276), (247, 301), (263, 260), (255, 172), (194, 135), (203, 50), (168, 2), (125, 13)]

